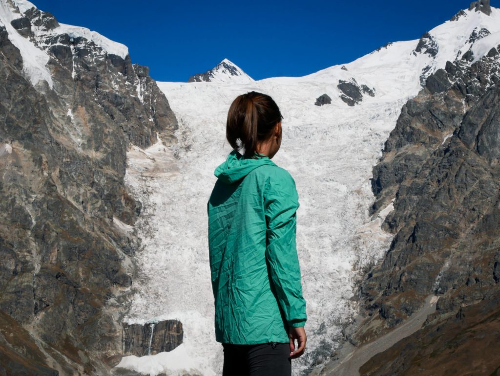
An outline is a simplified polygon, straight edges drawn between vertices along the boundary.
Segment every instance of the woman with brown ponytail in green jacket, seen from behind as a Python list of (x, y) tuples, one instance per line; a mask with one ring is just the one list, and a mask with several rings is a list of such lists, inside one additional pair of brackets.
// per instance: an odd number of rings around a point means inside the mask
[(268, 95), (238, 96), (226, 123), (233, 151), (214, 171), (208, 248), (223, 376), (289, 376), (291, 359), (305, 348), (298, 195), (291, 175), (271, 161), (281, 145), (281, 119)]

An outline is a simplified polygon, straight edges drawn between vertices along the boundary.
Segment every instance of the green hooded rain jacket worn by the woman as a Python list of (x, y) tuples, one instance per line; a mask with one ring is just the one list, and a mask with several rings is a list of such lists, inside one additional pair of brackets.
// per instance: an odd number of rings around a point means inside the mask
[(307, 318), (295, 182), (267, 156), (255, 156), (229, 153), (214, 171), (207, 202), (217, 342), (288, 342), (288, 326), (304, 326)]

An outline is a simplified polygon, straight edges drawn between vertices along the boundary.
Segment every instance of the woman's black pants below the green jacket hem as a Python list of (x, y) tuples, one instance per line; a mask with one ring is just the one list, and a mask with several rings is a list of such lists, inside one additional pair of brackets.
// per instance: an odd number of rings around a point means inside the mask
[(222, 343), (222, 376), (291, 376), (289, 342)]

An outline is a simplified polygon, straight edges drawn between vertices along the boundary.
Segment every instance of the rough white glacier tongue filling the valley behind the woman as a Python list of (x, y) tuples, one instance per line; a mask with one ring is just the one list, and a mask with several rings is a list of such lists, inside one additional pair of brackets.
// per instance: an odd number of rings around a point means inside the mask
[[(179, 173), (146, 178), (142, 175), (149, 171), (141, 175), (139, 162), (129, 159), (127, 182), (143, 203), (137, 226), (144, 248), (137, 252), (143, 279), (128, 320), (179, 319), (190, 359), (185, 368), (199, 363), (203, 349), (204, 370), (199, 370), (205, 375), (221, 371), (222, 348), (213, 332), (206, 201), (215, 182), (213, 170), (230, 151), (224, 139), (227, 109), (237, 95), (257, 90), (270, 94), (285, 117), (281, 150), (273, 160), (290, 171), (300, 197), (297, 251), (309, 351), (294, 360), (294, 372), (324, 360), (355, 312), (349, 298), (359, 269), (376, 262), (391, 239), (380, 230), (380, 218), (372, 223), (367, 215), (373, 200), (368, 177), (403, 101), (366, 103), (363, 111), (343, 102), (318, 108), (314, 98), (327, 85), (313, 81), (158, 85), (179, 120), (178, 144), (164, 150)], [(167, 363), (164, 367), (169, 369)]]

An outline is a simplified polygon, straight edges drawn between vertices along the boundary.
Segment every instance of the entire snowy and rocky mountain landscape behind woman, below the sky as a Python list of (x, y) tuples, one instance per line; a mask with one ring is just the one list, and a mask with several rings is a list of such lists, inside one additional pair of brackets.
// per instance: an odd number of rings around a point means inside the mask
[(256, 90), (299, 193), (293, 374), (498, 373), (499, 72), (487, 0), (351, 63), (254, 81), (224, 59), (207, 84), (0, 0), (0, 372), (221, 373), (203, 213)]

